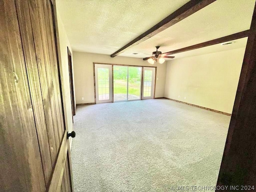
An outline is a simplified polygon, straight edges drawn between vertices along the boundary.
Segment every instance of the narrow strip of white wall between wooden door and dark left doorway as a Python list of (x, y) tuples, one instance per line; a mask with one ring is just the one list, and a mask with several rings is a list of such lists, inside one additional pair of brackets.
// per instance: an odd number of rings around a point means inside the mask
[[(58, 20), (58, 33), (60, 40), (60, 56), (61, 56), (61, 65), (62, 65), (62, 76), (64, 82), (64, 90), (62, 93), (65, 96), (65, 104), (66, 104), (66, 118), (67, 118), (67, 128), (68, 132), (72, 132), (73, 130), (73, 120), (72, 120), (72, 107), (71, 107), (71, 95), (70, 95), (70, 80), (69, 80), (69, 66), (68, 66), (68, 49), (69, 48), (72, 54), (72, 48), (70, 46), (70, 42), (66, 35), (66, 31), (64, 29), (64, 25), (62, 20), (58, 14), (57, 10), (57, 20)], [(73, 70), (74, 71), (74, 70)], [(71, 146), (72, 138), (70, 137), (70, 146)]]

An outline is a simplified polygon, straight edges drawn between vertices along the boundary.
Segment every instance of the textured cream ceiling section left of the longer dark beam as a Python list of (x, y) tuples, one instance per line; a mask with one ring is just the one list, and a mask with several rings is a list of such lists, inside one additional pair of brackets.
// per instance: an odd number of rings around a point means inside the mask
[(110, 55), (188, 1), (56, 0), (56, 6), (73, 50)]

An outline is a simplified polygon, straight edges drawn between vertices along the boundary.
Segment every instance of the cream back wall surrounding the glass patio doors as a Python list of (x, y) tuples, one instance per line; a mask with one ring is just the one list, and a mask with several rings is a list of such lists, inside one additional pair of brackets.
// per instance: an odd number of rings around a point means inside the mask
[[(109, 64), (125, 64), (136, 66), (157, 66), (156, 71), (156, 92), (155, 97), (164, 96), (164, 83), (166, 74), (166, 62), (163, 64), (149, 64), (141, 58), (116, 56), (111, 58), (109, 55), (93, 54), (84, 52), (73, 52), (74, 60), (74, 82), (76, 88), (76, 103), (94, 103), (94, 76), (93, 62)], [(82, 100), (82, 97), (84, 100)]]

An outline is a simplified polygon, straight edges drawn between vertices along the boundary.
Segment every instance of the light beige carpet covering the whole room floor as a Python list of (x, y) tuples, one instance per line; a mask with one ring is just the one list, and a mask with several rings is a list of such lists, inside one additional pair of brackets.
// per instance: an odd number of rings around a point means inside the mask
[(230, 116), (166, 99), (78, 106), (75, 192), (214, 186), (229, 122)]

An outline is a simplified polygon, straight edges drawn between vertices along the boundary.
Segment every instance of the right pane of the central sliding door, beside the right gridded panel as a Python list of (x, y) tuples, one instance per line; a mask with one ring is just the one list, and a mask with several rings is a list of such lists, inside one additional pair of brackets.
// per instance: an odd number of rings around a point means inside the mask
[(141, 67), (128, 68), (128, 100), (140, 100)]

